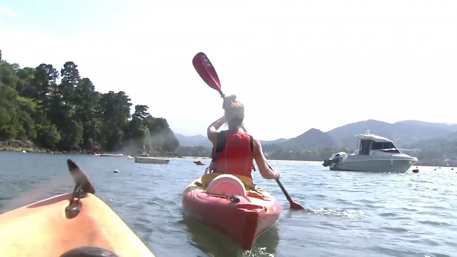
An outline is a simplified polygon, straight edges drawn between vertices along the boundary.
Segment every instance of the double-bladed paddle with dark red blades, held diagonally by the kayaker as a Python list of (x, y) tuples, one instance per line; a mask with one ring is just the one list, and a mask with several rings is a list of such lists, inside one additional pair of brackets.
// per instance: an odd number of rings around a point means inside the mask
[[(202, 52), (196, 54), (192, 59), (192, 64), (195, 70), (197, 70), (200, 77), (203, 79), (203, 81), (212, 89), (219, 92), (220, 97), (224, 98), (225, 95), (222, 93), (222, 90), (220, 89), (219, 77), (217, 76), (216, 70), (214, 69), (213, 64), (210, 62), (206, 54)], [(242, 128), (244, 131), (246, 131), (246, 129), (243, 126)], [(270, 164), (268, 164), (268, 167), (272, 169)], [(281, 182), (279, 181), (279, 178), (275, 178), (275, 180), (278, 183), (278, 186), (281, 188), (282, 193), (284, 193), (285, 197), (289, 201), (291, 209), (305, 209), (300, 204), (292, 201), (292, 198), (290, 198), (289, 194), (287, 194), (287, 191), (282, 186)]]

